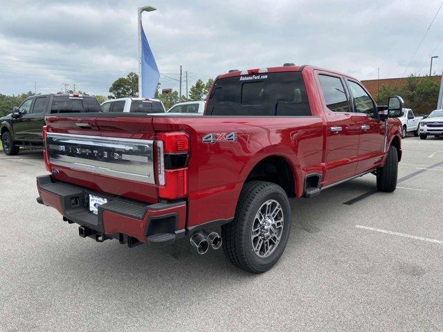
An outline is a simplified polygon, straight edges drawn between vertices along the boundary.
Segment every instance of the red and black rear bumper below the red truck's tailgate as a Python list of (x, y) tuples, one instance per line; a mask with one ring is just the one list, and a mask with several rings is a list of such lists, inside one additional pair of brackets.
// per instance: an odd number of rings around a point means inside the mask
[[(39, 203), (57, 209), (66, 221), (83, 226), (89, 237), (100, 234), (133, 246), (171, 243), (185, 235), (185, 201), (147, 205), (70, 183), (53, 182), (50, 175), (37, 177), (37, 189)], [(89, 211), (89, 194), (107, 199), (98, 207), (98, 214)]]

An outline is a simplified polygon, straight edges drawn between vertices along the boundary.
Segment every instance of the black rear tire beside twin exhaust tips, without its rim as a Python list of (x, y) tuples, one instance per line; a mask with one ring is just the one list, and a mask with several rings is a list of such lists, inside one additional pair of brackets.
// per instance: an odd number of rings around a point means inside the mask
[[(275, 201), (280, 204), (283, 217), (280, 241), (269, 256), (260, 257), (253, 248), (253, 225), (255, 216), (265, 202)], [(264, 181), (251, 181), (244, 185), (240, 194), (235, 218), (221, 227), (223, 251), (226, 257), (237, 267), (250, 273), (263, 273), (274, 266), (286, 247), (291, 230), (291, 208), (289, 199), (279, 185)], [(260, 232), (260, 230), (258, 231)], [(259, 235), (258, 237), (261, 237)], [(257, 239), (257, 238), (256, 238)], [(260, 241), (260, 239), (258, 239)], [(260, 246), (260, 249), (262, 246)], [(263, 247), (266, 249), (266, 247)]]

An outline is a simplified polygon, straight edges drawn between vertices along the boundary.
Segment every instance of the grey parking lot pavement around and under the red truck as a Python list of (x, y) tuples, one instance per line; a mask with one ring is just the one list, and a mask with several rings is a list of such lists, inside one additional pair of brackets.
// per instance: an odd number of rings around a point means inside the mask
[(372, 174), (291, 201), (278, 264), (221, 250), (96, 243), (36, 203), (41, 151), (0, 154), (0, 331), (443, 331), (443, 139), (403, 140), (397, 190)]

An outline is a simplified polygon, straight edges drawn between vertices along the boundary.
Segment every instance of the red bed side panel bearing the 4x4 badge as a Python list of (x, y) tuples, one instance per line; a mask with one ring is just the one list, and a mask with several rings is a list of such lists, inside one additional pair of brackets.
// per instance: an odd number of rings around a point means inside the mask
[[(233, 218), (244, 181), (268, 156), (286, 159), (296, 179), (321, 173), (323, 122), (320, 117), (153, 118), (154, 131), (190, 136), (188, 227)], [(203, 142), (208, 133), (237, 133), (237, 142)], [(296, 194), (302, 192), (296, 182)]]

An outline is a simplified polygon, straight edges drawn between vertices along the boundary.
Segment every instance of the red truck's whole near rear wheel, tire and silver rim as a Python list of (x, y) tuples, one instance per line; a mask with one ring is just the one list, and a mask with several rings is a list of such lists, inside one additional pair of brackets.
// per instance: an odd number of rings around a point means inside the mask
[(223, 251), (239, 268), (263, 273), (277, 263), (291, 230), (289, 199), (275, 183), (251, 181), (240, 194), (235, 218), (223, 225)]

